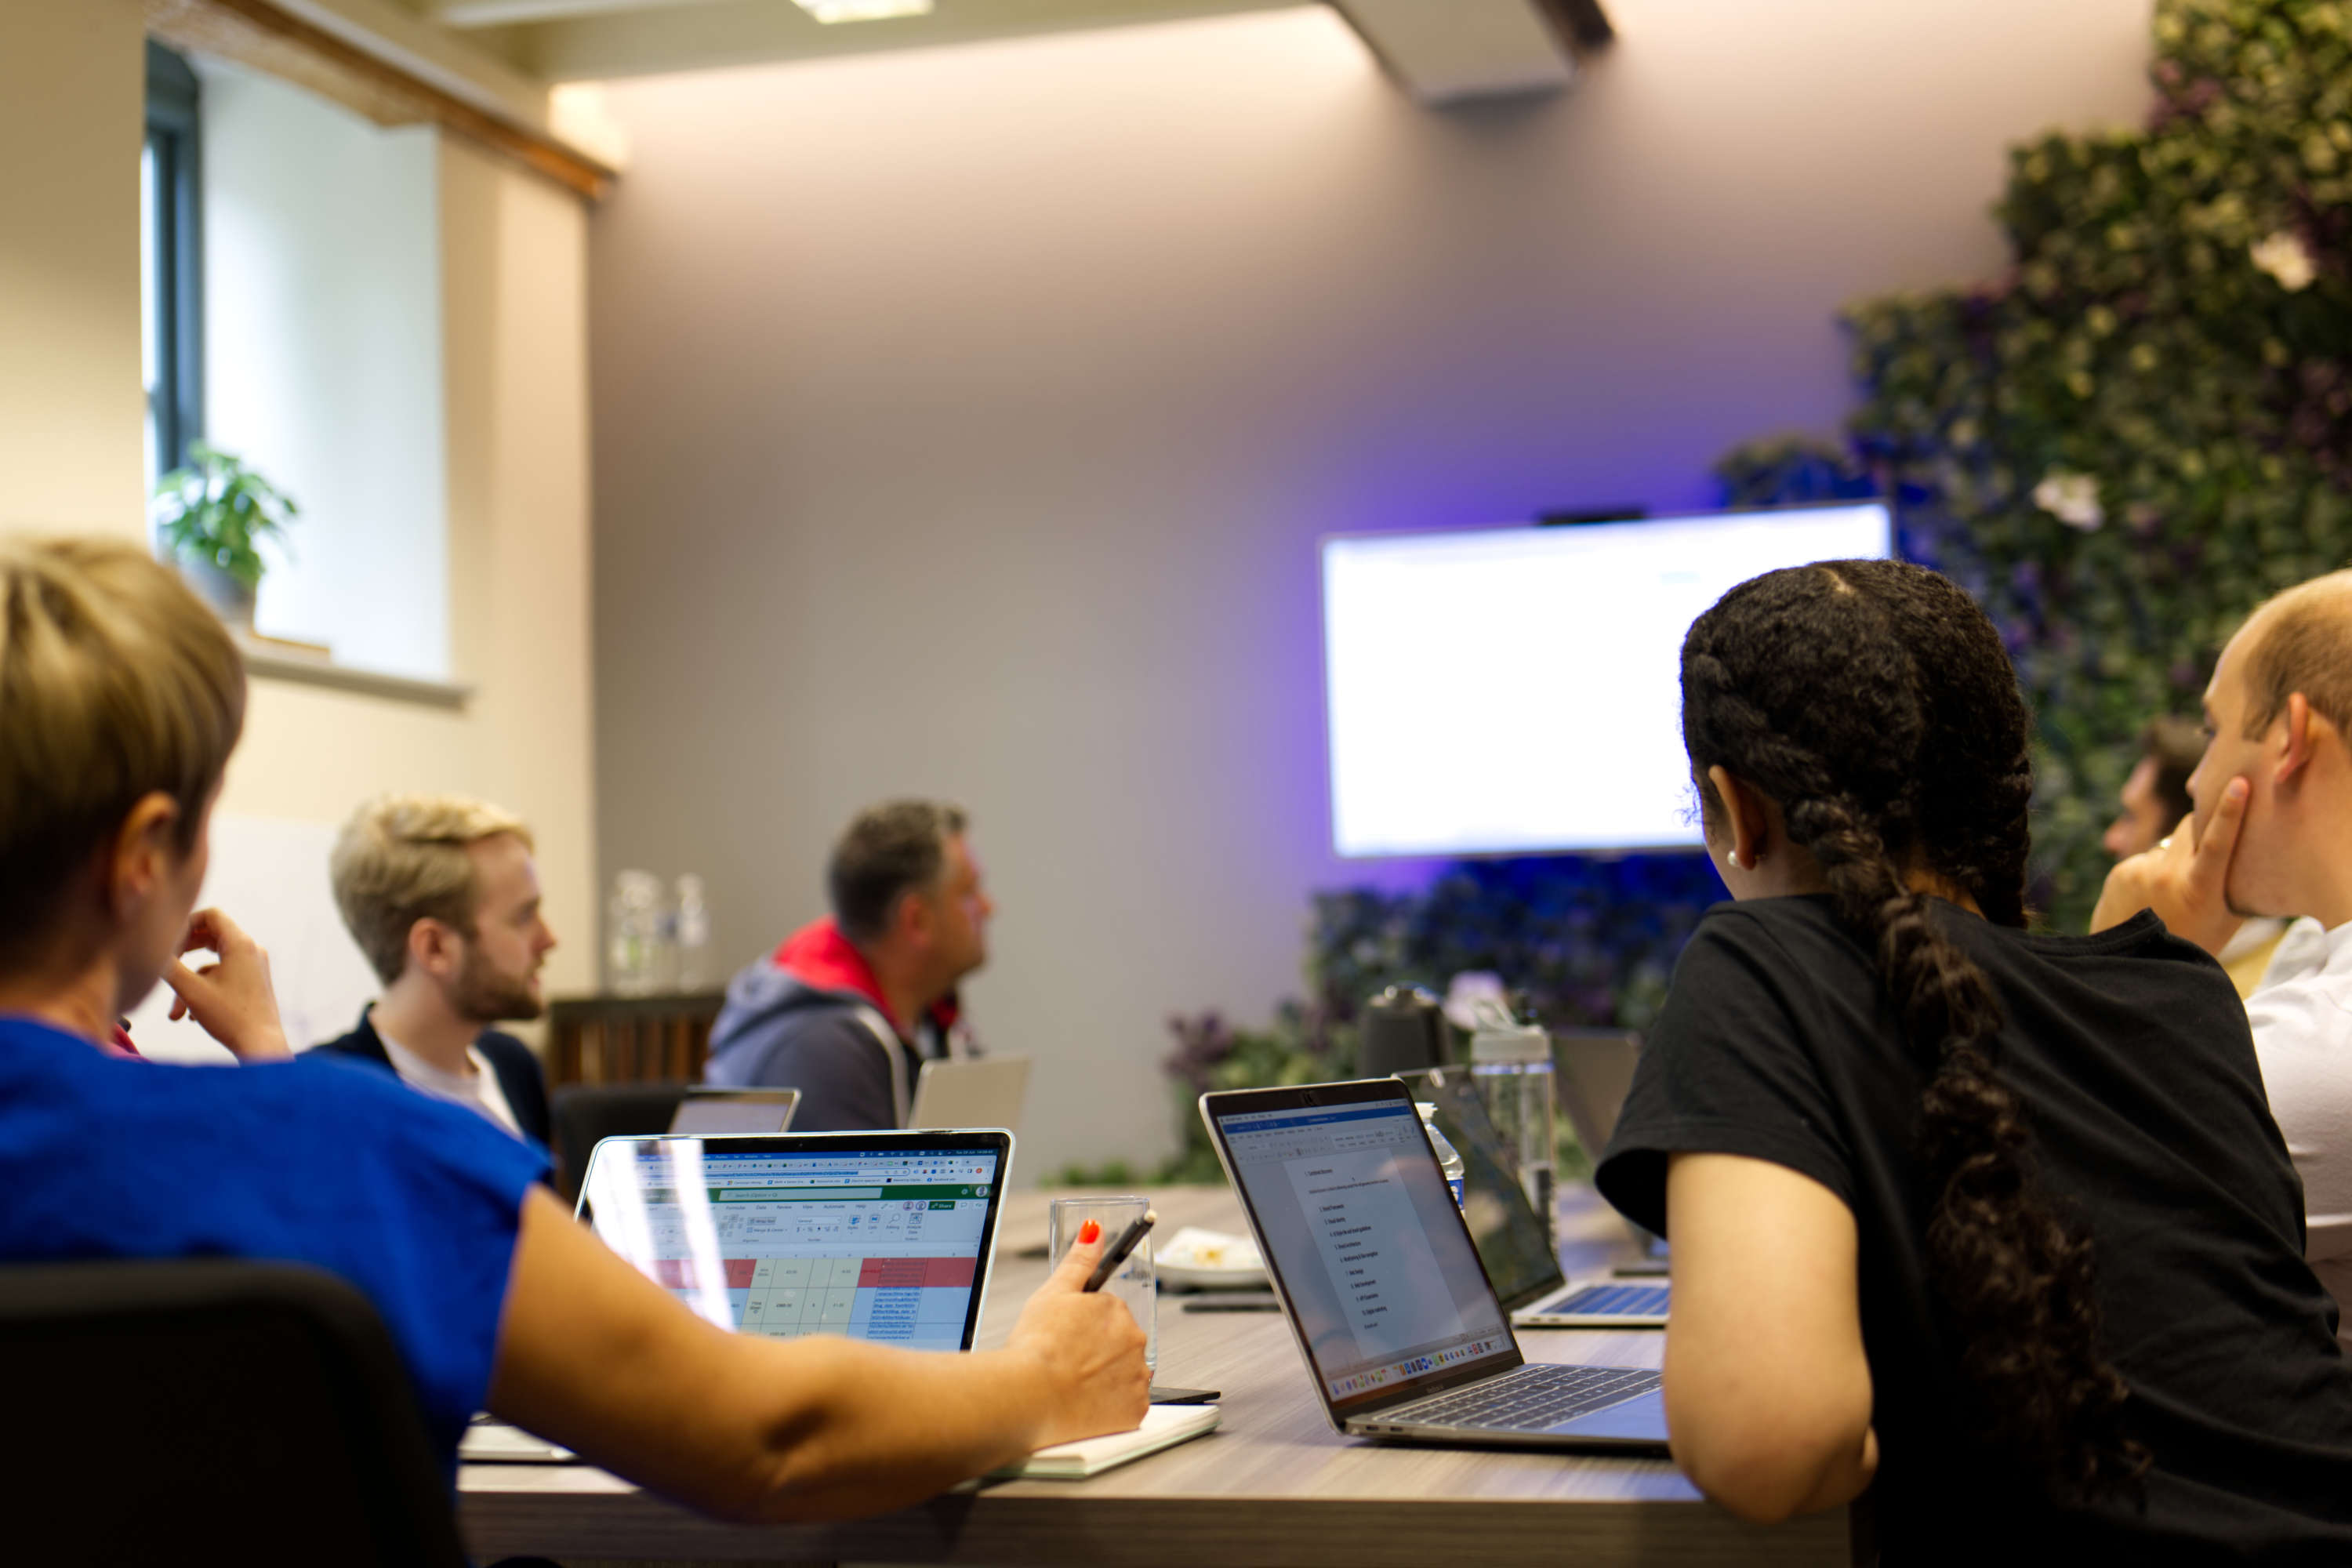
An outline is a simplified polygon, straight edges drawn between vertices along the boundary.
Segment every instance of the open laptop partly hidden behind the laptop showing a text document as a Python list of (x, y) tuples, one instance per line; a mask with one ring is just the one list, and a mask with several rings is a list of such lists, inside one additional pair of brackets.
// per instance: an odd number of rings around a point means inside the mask
[(1437, 1131), (1463, 1157), (1463, 1220), (1515, 1328), (1665, 1328), (1663, 1279), (1569, 1281), (1559, 1272), (1552, 1234), (1529, 1206), (1468, 1067), (1423, 1067), (1397, 1079), (1414, 1100), (1437, 1107)]

